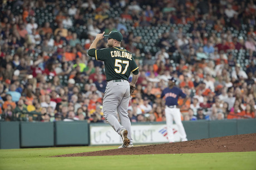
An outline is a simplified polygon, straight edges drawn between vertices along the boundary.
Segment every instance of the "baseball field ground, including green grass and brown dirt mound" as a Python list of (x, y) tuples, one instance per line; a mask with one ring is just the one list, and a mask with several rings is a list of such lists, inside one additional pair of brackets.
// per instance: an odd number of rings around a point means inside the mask
[(255, 137), (252, 133), (122, 149), (0, 150), (0, 169), (256, 169)]

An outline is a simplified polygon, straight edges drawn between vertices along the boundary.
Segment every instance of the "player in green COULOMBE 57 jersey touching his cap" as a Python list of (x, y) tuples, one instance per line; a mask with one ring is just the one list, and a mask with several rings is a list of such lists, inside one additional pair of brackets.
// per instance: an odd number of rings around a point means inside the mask
[[(104, 35), (104, 33), (96, 35), (88, 50), (88, 55), (105, 63), (107, 86), (103, 98), (103, 112), (106, 121), (122, 138), (123, 143), (119, 148), (133, 147), (131, 122), (127, 110), (130, 94), (135, 90), (139, 68), (132, 54), (121, 47), (122, 34), (115, 30), (112, 30), (109, 35)], [(104, 37), (108, 38), (109, 48), (96, 49), (97, 43)], [(128, 78), (131, 72), (133, 73), (132, 81), (129, 83)], [(115, 117), (116, 111), (119, 114), (121, 125)]]

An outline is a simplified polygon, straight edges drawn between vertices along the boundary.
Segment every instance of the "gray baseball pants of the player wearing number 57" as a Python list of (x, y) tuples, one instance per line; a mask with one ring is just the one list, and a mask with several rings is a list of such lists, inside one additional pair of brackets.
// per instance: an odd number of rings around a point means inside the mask
[[(125, 128), (128, 131), (127, 137), (130, 140), (130, 144), (132, 144), (131, 122), (127, 112), (129, 99), (130, 84), (127, 80), (121, 80), (119, 82), (111, 80), (107, 82), (103, 98), (104, 118), (119, 135), (121, 130)], [(115, 117), (116, 111), (119, 114), (121, 125)]]

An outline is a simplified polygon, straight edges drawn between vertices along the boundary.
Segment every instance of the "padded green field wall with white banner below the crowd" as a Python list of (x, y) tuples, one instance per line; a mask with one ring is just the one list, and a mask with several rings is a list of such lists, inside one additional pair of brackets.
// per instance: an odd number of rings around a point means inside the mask
[[(188, 140), (256, 133), (256, 119), (183, 121)], [(132, 123), (134, 144), (165, 143), (165, 122)], [(175, 141), (180, 141), (174, 125)], [(121, 138), (107, 123), (0, 122), (0, 148), (120, 145)]]

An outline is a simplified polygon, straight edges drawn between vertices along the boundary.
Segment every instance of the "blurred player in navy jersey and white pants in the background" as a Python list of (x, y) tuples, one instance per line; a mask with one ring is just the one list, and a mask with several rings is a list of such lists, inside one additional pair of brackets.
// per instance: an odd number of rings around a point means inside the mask
[(174, 142), (173, 121), (175, 121), (176, 125), (178, 126), (178, 132), (180, 133), (181, 141), (188, 141), (183, 123), (181, 122), (181, 113), (178, 106), (179, 96), (185, 98), (183, 105), (186, 103), (188, 97), (180, 88), (175, 86), (176, 80), (174, 78), (170, 78), (168, 80), (168, 87), (166, 87), (161, 94), (161, 98), (163, 98), (163, 101), (165, 102), (165, 117), (168, 141), (170, 143)]

